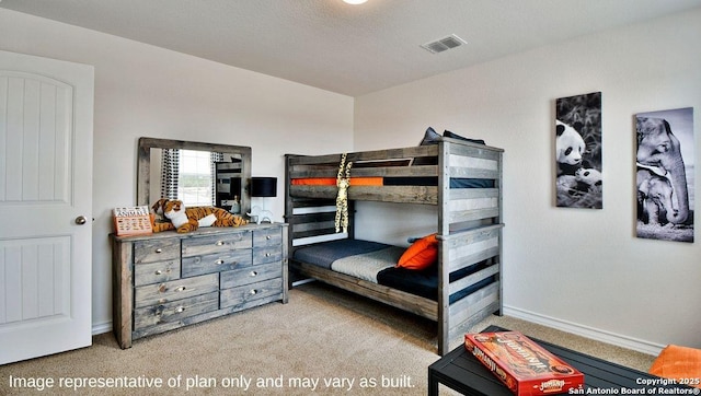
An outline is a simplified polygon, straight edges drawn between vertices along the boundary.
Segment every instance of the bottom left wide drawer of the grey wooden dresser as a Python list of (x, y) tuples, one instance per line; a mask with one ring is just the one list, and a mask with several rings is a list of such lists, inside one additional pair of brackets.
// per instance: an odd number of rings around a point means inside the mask
[(170, 303), (151, 305), (134, 311), (134, 329), (181, 321), (219, 308), (219, 293), (211, 292)]

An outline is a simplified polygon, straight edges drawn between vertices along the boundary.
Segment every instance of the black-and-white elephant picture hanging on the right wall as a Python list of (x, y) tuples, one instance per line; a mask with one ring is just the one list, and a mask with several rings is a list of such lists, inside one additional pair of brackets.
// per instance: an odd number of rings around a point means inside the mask
[(639, 237), (693, 242), (693, 108), (635, 115)]

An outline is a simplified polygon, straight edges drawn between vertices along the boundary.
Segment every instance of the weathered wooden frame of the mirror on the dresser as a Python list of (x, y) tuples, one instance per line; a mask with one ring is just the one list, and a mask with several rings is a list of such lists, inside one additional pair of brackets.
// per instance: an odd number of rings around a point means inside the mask
[[(251, 211), (251, 200), (248, 194), (248, 185), (251, 179), (251, 148), (245, 145), (230, 145), (217, 143), (203, 143), (185, 140), (170, 140), (157, 138), (139, 138), (137, 154), (136, 202), (138, 206), (151, 205), (151, 149), (182, 149), (220, 152), (225, 154), (239, 154), (243, 164), (241, 172), (241, 214)], [(216, 183), (216, 182), (215, 182)]]

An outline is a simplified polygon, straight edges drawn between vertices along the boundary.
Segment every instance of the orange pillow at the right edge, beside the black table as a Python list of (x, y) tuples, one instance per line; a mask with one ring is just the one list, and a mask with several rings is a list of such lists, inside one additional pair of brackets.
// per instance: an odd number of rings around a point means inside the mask
[[(668, 345), (650, 368), (650, 373), (664, 378), (700, 378), (701, 349)], [(701, 387), (701, 384), (691, 384)]]

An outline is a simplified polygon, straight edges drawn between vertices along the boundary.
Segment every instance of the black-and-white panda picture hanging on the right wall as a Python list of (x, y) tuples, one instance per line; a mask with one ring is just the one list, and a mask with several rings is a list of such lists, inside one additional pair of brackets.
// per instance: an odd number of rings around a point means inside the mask
[(602, 209), (601, 92), (555, 101), (556, 205)]

